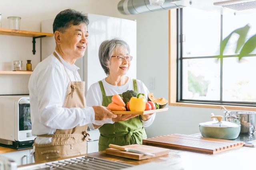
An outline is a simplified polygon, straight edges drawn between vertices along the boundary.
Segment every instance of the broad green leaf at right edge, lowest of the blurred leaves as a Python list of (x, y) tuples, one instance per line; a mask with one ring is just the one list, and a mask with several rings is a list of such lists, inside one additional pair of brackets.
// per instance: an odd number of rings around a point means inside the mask
[(252, 51), (256, 48), (256, 34), (250, 37), (246, 43), (244, 43), (243, 48), (240, 51), (240, 54), (238, 55), (239, 60), (242, 59), (242, 57), (247, 57), (248, 54), (252, 53)]

